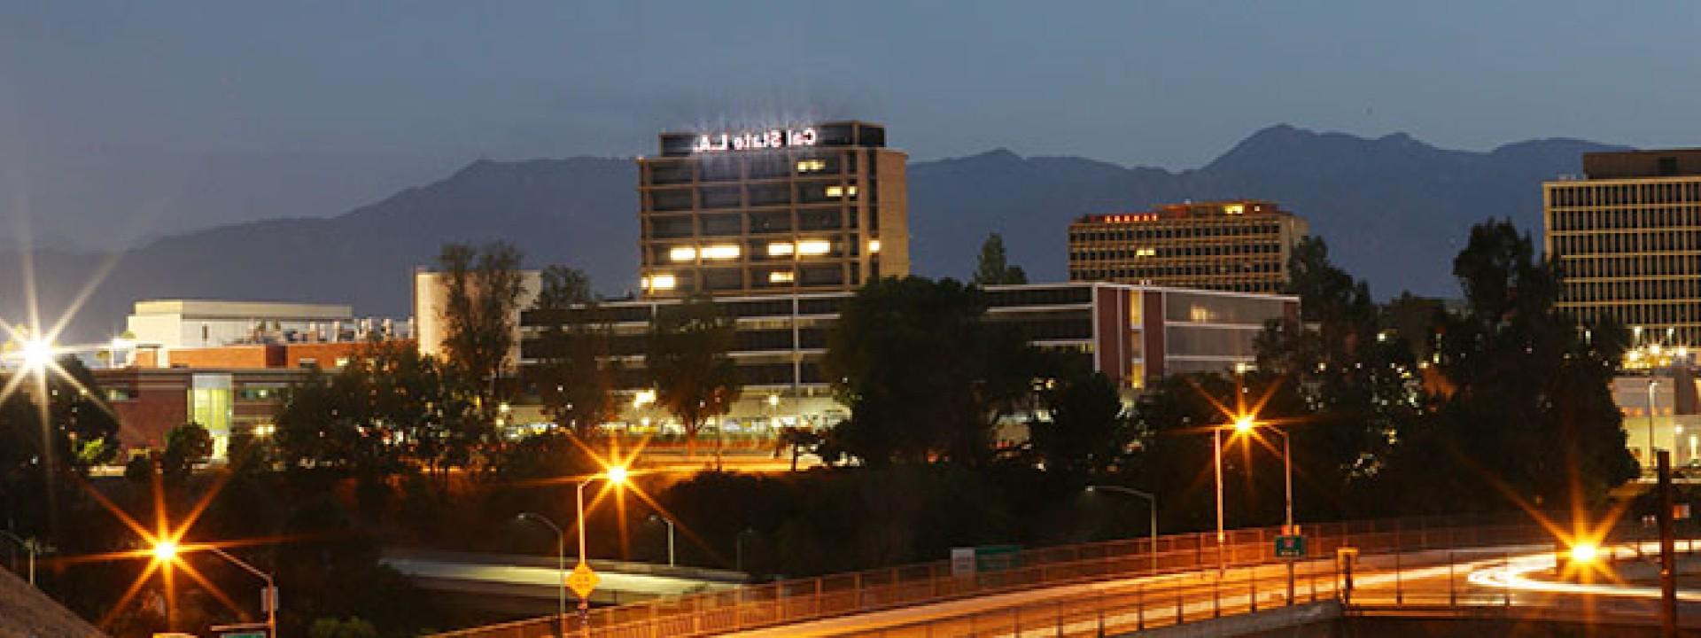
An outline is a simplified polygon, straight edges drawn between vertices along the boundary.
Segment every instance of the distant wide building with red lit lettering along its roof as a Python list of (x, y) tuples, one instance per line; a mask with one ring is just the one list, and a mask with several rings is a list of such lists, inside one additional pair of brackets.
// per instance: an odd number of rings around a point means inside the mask
[(1259, 199), (1089, 214), (1068, 226), (1068, 279), (1281, 293), (1306, 228)]

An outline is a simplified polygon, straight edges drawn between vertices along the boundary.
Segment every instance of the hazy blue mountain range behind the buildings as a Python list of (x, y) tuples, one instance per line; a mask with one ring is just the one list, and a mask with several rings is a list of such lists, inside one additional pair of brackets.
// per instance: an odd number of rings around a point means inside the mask
[[(1407, 289), (1456, 296), (1451, 260), (1473, 223), (1510, 218), (1539, 242), (1539, 184), (1580, 172), (1585, 151), (1614, 148), (1536, 140), (1461, 151), (1403, 133), (1359, 138), (1279, 124), (1180, 172), (993, 150), (910, 165), (910, 252), (917, 274), (966, 277), (981, 240), (998, 231), (1031, 279), (1060, 281), (1067, 226), (1080, 214), (1257, 197), (1305, 216), (1380, 298)], [(636, 286), (634, 184), (631, 158), (478, 160), (338, 216), (218, 226), (111, 255), (39, 247), (31, 259), (0, 253), (0, 264), (32, 265), (48, 316), (109, 267), (66, 340), (111, 337), (129, 305), (146, 298), (352, 303), (361, 315), (405, 316), (410, 271), (446, 242), (509, 240), (529, 265), (575, 265), (599, 291), (623, 294)], [(22, 281), (0, 277), (9, 322), (27, 316)]]

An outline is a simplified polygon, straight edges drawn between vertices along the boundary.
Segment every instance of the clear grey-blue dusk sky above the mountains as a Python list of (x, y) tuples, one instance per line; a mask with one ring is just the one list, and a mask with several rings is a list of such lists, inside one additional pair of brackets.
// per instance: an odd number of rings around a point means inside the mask
[(1682, 146), (1696, 26), (1677, 2), (9, 2), (0, 206), (49, 233), (136, 206), (146, 236), (225, 199), (335, 214), (478, 157), (815, 117), (919, 160), (1172, 170), (1274, 122)]

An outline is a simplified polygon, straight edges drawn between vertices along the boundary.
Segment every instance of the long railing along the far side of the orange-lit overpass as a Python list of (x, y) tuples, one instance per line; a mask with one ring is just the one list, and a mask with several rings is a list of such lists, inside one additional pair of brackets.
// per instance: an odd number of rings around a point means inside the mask
[[(1279, 533), (1254, 527), (1228, 531), (1223, 543), (1215, 533), (1192, 533), (1160, 536), (1155, 544), (1140, 538), (1036, 548), (1021, 551), (1010, 568), (973, 575), (954, 575), (941, 560), (781, 580), (592, 609), (585, 624), (577, 618), (566, 624), (575, 635), (595, 638), (701, 636), (1075, 582), (1267, 565)], [(1383, 553), (1551, 539), (1522, 512), (1328, 522), (1306, 526), (1305, 536), (1315, 556), (1339, 546)], [(555, 635), (555, 616), (544, 616), (439, 636), (541, 638)]]

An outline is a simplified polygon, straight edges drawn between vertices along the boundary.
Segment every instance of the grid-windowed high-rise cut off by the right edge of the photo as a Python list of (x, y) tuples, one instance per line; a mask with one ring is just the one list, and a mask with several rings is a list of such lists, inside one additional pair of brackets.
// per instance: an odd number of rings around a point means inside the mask
[(1585, 153), (1582, 179), (1541, 191), (1560, 310), (1655, 347), (1701, 344), (1701, 148)]

